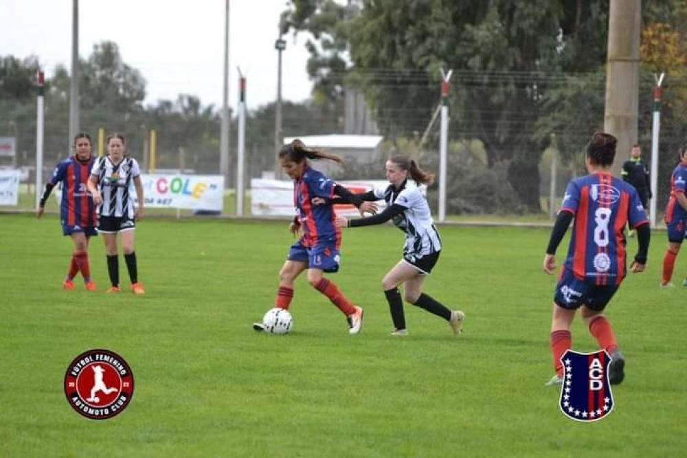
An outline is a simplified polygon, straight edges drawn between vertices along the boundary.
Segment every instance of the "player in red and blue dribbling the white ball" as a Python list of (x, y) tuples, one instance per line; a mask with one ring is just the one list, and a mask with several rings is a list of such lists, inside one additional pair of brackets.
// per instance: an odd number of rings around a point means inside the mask
[[(296, 277), (308, 271), (308, 283), (325, 295), (348, 321), (348, 332), (358, 334), (363, 324), (363, 309), (353, 305), (339, 288), (324, 277), (324, 273), (339, 270), (341, 229), (335, 225), (336, 214), (332, 205), (315, 205), (313, 199), (331, 198), (335, 195), (350, 198), (361, 211), (376, 211), (376, 204), (363, 202), (345, 187), (330, 180), (325, 174), (308, 165), (306, 159), (329, 159), (338, 163), (341, 157), (330, 152), (306, 148), (296, 139), (284, 145), (279, 152), (279, 161), (284, 172), (293, 179), (293, 205), (296, 216), (289, 226), (293, 235), (302, 231), (286, 257), (279, 273), (279, 288), (275, 308), (288, 309), (294, 293)], [(263, 330), (262, 323), (254, 323), (255, 330)]]

